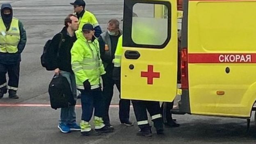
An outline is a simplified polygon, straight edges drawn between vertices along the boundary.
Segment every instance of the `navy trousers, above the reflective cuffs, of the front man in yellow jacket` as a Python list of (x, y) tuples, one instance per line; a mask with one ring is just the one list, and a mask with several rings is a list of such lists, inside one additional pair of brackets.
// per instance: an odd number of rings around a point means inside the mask
[(81, 91), (82, 120), (89, 122), (93, 111), (94, 116), (102, 118), (104, 112), (104, 101), (101, 88), (91, 91)]

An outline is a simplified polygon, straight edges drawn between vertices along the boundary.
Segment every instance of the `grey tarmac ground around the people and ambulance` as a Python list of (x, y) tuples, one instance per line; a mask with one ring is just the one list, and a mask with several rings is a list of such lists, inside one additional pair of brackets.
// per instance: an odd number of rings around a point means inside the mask
[[(63, 134), (57, 128), (60, 110), (49, 106), (48, 85), (53, 72), (40, 64), (44, 43), (64, 26), (64, 18), (73, 12), (73, 0), (0, 0), (10, 2), (14, 16), (27, 30), (27, 45), (22, 54), (21, 76), (17, 100), (7, 95), (0, 100), (0, 144), (255, 144), (256, 126), (246, 131), (246, 119), (174, 115), (179, 128), (165, 128), (165, 135), (136, 136), (137, 125), (121, 126), (118, 118), (118, 92), (115, 89), (110, 108), (114, 133), (98, 137), (82, 137), (80, 132)], [(101, 28), (111, 18), (122, 19), (123, 0), (86, 0), (86, 9), (93, 12)], [(78, 104), (80, 102), (78, 101)], [(131, 121), (135, 121), (131, 109)], [(80, 122), (81, 107), (76, 107)], [(254, 113), (252, 114), (254, 116)]]

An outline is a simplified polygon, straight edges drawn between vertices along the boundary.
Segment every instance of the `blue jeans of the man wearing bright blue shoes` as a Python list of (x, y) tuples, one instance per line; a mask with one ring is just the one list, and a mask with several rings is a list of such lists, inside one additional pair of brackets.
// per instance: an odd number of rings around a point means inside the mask
[[(68, 80), (69, 85), (71, 87), (73, 97), (76, 100), (75, 74), (69, 73), (69, 72), (66, 72), (66, 71), (60, 71), (60, 74)], [(60, 123), (62, 123), (62, 124), (71, 124), (71, 123), (76, 121), (75, 119), (76, 119), (75, 105), (71, 105), (69, 107), (61, 108)]]

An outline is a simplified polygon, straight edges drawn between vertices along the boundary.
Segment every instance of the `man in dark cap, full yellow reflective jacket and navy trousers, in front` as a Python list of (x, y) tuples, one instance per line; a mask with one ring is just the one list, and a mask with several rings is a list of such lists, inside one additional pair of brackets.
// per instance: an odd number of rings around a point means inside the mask
[[(100, 135), (98, 132), (113, 132), (103, 121), (104, 101), (100, 77), (106, 72), (100, 57), (98, 40), (94, 37), (93, 25), (83, 25), (82, 31), (76, 31), (77, 40), (71, 49), (71, 66), (75, 73), (76, 87), (81, 92), (82, 121), (81, 133), (84, 136)], [(95, 109), (95, 111), (94, 111)], [(89, 121), (94, 111), (95, 130)]]

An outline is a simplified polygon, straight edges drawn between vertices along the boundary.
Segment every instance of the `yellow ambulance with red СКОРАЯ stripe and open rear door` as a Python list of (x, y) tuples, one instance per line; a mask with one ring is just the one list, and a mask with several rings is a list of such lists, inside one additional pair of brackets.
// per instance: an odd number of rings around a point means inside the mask
[(121, 97), (171, 102), (182, 91), (181, 113), (250, 118), (255, 8), (256, 0), (183, 0), (178, 53), (177, 0), (124, 0)]

